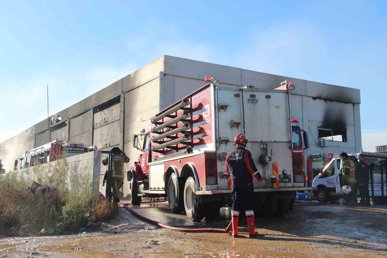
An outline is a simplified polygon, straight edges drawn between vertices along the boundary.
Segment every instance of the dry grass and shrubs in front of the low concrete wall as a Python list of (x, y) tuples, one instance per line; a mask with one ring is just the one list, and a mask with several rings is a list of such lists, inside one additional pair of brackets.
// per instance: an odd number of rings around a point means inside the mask
[[(117, 205), (92, 195), (89, 167), (77, 167), (77, 172), (71, 172), (70, 180), (67, 180), (70, 171), (66, 159), (49, 169), (35, 165), (23, 173), (0, 175), (2, 236), (32, 236), (39, 234), (41, 229), (46, 229), (46, 234), (58, 234), (84, 227), (89, 212), (99, 221), (116, 215)], [(27, 187), (33, 181), (56, 190), (31, 194)], [(57, 224), (60, 222), (63, 226), (59, 229)]]

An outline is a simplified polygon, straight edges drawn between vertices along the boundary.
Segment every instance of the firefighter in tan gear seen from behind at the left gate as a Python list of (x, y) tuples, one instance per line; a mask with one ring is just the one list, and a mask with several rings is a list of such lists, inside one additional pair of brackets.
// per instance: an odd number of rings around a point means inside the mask
[[(129, 158), (125, 152), (121, 151), (120, 148), (114, 147), (111, 149), (112, 155), (112, 171), (111, 171), (111, 186), (113, 187), (113, 201), (115, 203), (120, 202), (119, 191), (123, 185), (123, 163), (128, 163)], [(103, 160), (103, 165), (107, 165), (109, 158)], [(106, 174), (105, 174), (106, 175)], [(104, 180), (105, 181), (105, 180)]]

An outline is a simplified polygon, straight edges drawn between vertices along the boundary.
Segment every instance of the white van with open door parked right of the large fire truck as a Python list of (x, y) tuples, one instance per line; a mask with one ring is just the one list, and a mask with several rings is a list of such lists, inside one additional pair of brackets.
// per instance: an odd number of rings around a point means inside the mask
[(344, 197), (339, 179), (341, 164), (340, 156), (335, 154), (322, 172), (313, 178), (312, 186), (317, 187), (313, 194), (318, 201), (337, 201)]

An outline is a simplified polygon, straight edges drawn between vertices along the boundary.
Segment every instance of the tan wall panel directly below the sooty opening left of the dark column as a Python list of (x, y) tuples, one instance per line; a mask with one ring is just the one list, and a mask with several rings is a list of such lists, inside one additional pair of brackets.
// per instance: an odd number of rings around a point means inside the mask
[(94, 129), (93, 144), (98, 150), (120, 144), (120, 120)]

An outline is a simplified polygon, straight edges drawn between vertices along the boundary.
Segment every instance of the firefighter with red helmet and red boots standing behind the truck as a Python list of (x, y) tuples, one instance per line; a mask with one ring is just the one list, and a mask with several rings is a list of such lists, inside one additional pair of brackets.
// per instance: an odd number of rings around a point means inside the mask
[(255, 167), (250, 151), (246, 150), (247, 139), (243, 134), (235, 136), (236, 148), (226, 157), (226, 172), (231, 175), (231, 222), (233, 225), (233, 237), (238, 237), (238, 218), (241, 206), (244, 203), (247, 217), (247, 225), (250, 237), (257, 236), (254, 230), (254, 186), (253, 177), (261, 182), (265, 181)]

